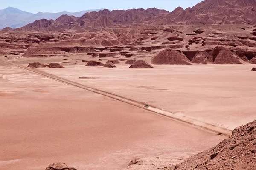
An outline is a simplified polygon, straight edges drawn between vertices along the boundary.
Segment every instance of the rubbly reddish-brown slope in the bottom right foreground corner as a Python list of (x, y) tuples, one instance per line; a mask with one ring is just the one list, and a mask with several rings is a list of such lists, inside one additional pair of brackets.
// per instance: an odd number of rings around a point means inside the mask
[(255, 170), (256, 121), (236, 128), (215, 147), (166, 170)]

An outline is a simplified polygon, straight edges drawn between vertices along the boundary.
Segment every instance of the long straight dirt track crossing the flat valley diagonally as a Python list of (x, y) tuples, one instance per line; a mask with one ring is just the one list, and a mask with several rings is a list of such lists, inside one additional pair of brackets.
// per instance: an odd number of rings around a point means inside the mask
[(227, 129), (225, 127), (221, 127), (219, 125), (213, 125), (213, 124), (210, 124), (210, 123), (207, 123), (207, 122), (202, 122), (200, 120), (192, 119), (192, 118), (189, 118), (189, 117), (184, 116), (184, 115), (179, 114), (179, 113), (172, 113), (172, 112), (169, 112), (169, 111), (163, 111), (162, 109), (159, 109), (159, 108), (153, 108), (153, 107), (145, 108), (143, 103), (140, 103), (140, 102), (137, 102), (137, 101), (134, 101), (134, 100), (131, 100), (131, 99), (127, 99), (125, 97), (118, 96), (118, 95), (115, 95), (115, 94), (112, 94), (112, 93), (109, 93), (109, 92), (106, 92), (106, 91), (91, 88), (91, 87), (88, 87), (86, 85), (82, 85), (80, 83), (73, 82), (73, 81), (70, 81), (68, 79), (64, 79), (64, 78), (55, 76), (53, 74), (46, 73), (44, 71), (40, 71), (39, 69), (27, 68), (27, 67), (24, 67), (22, 65), (7, 61), (5, 59), (0, 59), (0, 61), (8, 63), (10, 65), (15, 65), (19, 68), (23, 68), (25, 70), (34, 72), (34, 73), (39, 74), (41, 76), (47, 77), (49, 79), (54, 79), (56, 81), (66, 83), (68, 85), (73, 85), (73, 86), (78, 87), (78, 88), (82, 88), (82, 89), (92, 91), (92, 92), (97, 93), (97, 94), (101, 94), (103, 96), (110, 97), (112, 99), (119, 100), (121, 102), (125, 102), (129, 105), (133, 105), (135, 107), (147, 110), (151, 113), (158, 114), (160, 116), (168, 117), (169, 119), (172, 119), (172, 120), (175, 120), (175, 121), (188, 123), (190, 125), (195, 125), (197, 127), (201, 127), (203, 129), (207, 129), (207, 130), (210, 130), (210, 131), (213, 131), (213, 132), (216, 132), (216, 133), (222, 133), (222, 134), (225, 134), (227, 136), (230, 136), (232, 134), (232, 130)]

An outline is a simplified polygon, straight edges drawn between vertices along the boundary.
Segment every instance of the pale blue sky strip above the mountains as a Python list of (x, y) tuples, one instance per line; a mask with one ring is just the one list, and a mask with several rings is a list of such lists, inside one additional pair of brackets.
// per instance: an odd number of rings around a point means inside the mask
[(37, 12), (77, 12), (89, 9), (131, 9), (159, 8), (172, 11), (178, 6), (192, 7), (202, 0), (0, 0), (0, 9), (8, 6), (23, 11)]

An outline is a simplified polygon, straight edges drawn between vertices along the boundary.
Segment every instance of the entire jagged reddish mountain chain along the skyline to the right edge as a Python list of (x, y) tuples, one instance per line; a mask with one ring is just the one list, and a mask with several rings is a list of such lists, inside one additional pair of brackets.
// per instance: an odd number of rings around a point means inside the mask
[[(172, 12), (157, 8), (87, 12), (81, 17), (62, 15), (60, 19), (35, 21), (24, 26), (29, 31), (101, 31), (106, 28), (168, 25), (255, 24), (256, 0), (204, 0), (192, 8), (176, 8)], [(40, 25), (37, 23), (46, 23)], [(50, 24), (49, 24), (50, 23)]]

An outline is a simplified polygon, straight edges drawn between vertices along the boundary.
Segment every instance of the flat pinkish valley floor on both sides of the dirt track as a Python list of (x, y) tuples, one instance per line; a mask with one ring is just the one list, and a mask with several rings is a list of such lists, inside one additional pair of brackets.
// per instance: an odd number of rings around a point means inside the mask
[[(230, 129), (256, 119), (253, 65), (117, 66), (40, 70)], [(2, 62), (0, 82), (0, 169), (61, 161), (118, 170), (137, 157), (187, 158), (226, 138)]]

